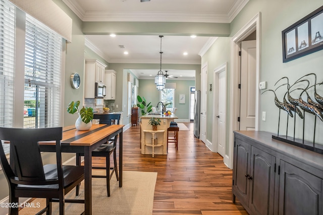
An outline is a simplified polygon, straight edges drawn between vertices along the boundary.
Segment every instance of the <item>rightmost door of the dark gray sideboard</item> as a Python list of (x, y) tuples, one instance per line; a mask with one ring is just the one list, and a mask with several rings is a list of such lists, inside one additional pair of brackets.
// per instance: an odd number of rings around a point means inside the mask
[(322, 179), (282, 161), (279, 214), (323, 214), (322, 186)]

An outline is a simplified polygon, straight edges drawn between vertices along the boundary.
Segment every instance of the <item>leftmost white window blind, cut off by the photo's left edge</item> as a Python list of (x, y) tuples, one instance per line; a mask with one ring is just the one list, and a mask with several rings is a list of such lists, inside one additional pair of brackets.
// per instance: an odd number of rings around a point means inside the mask
[[(0, 126), (13, 127), (15, 6), (0, 1)], [(4, 145), (9, 153), (9, 145)]]

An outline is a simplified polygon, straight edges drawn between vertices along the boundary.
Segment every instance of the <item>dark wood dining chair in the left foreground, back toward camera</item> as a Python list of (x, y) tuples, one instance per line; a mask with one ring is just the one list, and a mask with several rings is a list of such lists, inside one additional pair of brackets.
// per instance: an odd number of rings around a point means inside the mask
[[(84, 203), (81, 199), (65, 199), (65, 195), (84, 179), (84, 167), (62, 165), (62, 127), (1, 127), (0, 139), (10, 142), (10, 164), (3, 144), (0, 159), (9, 184), (11, 204), (18, 204), (19, 197), (46, 198), (46, 207), (37, 214), (51, 214), (51, 202), (59, 202), (60, 214), (64, 214), (65, 202)], [(57, 161), (43, 165), (38, 142), (50, 140), (56, 142)], [(18, 207), (9, 207), (9, 214), (18, 214), (18, 210)]]

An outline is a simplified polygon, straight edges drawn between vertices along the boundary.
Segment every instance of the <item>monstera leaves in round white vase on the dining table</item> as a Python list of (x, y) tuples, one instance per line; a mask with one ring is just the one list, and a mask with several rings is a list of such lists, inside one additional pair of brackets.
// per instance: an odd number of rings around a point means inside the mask
[(67, 112), (74, 114), (78, 113), (79, 117), (75, 122), (75, 127), (78, 130), (89, 130), (92, 126), (91, 120), (93, 119), (93, 109), (91, 107), (82, 107), (81, 110), (79, 110), (80, 101), (72, 101), (68, 107)]

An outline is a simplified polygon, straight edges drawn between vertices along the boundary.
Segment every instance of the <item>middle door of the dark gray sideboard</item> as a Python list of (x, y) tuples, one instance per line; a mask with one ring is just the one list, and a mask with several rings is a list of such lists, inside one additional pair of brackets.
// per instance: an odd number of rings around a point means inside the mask
[(249, 207), (254, 214), (273, 214), (275, 162), (275, 156), (252, 147)]

